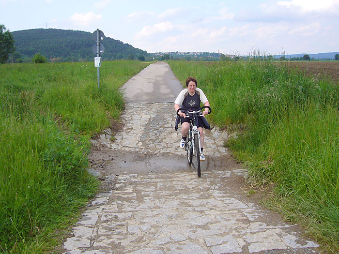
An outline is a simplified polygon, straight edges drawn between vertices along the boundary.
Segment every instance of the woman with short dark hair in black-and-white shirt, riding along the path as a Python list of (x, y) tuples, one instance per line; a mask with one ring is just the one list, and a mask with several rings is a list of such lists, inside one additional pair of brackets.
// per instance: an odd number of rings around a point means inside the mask
[[(200, 88), (197, 88), (198, 82), (194, 77), (188, 77), (186, 79), (186, 88), (182, 90), (178, 97), (175, 99), (174, 108), (177, 111), (181, 105), (185, 107), (187, 110), (191, 111), (198, 111), (200, 110), (200, 102), (204, 106), (209, 106), (210, 103), (208, 102), (206, 95)], [(208, 108), (205, 108), (202, 111), (202, 116), (207, 115)], [(181, 121), (181, 135), (182, 139), (180, 141), (180, 148), (185, 148), (185, 140), (189, 131), (189, 119), (186, 118), (185, 112), (179, 111)], [(198, 118), (197, 127), (200, 132), (200, 144), (201, 144), (201, 153), (200, 153), (200, 161), (205, 160), (205, 156), (202, 153), (203, 149), (203, 129), (202, 129), (202, 120)]]

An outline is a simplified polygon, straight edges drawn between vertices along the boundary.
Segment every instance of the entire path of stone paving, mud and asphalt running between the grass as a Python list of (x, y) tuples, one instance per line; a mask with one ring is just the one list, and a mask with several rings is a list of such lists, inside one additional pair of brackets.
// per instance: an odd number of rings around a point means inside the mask
[(247, 194), (246, 168), (223, 147), (227, 133), (205, 131), (201, 178), (188, 166), (174, 132), (173, 102), (182, 88), (166, 63), (150, 65), (123, 88), (121, 131), (113, 141), (110, 129), (92, 140), (103, 193), (74, 225), (64, 253), (320, 253), (297, 225)]

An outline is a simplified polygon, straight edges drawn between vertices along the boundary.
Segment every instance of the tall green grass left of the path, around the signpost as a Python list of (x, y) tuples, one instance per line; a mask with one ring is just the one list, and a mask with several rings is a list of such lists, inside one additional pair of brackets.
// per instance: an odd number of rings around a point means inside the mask
[(0, 253), (47, 253), (97, 189), (89, 139), (117, 120), (119, 87), (148, 63), (0, 65)]

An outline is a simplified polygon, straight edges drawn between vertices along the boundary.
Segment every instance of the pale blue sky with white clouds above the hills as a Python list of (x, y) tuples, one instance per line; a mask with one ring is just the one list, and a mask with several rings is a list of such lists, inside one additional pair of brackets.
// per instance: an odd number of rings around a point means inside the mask
[(0, 24), (99, 29), (149, 53), (339, 51), (339, 0), (0, 0)]

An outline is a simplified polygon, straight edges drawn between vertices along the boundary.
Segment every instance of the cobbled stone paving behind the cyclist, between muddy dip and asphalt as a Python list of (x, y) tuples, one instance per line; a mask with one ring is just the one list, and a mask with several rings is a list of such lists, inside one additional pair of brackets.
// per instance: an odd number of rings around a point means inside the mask
[[(111, 142), (110, 130), (100, 136), (98, 142), (108, 148), (126, 151), (137, 151), (144, 154), (172, 153), (183, 155), (178, 149), (181, 139), (179, 125), (175, 132), (175, 119), (173, 103), (129, 103), (122, 115), (124, 121), (123, 132), (115, 135)], [(205, 155), (220, 156), (227, 154), (223, 143), (228, 138), (227, 132), (220, 132), (217, 127), (204, 131)], [(94, 145), (97, 141), (92, 140)]]

